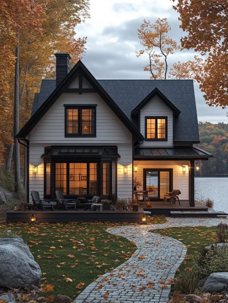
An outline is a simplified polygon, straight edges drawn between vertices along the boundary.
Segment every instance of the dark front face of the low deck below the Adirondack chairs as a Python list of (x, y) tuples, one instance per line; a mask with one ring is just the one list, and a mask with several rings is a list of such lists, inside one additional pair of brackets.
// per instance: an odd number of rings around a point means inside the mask
[(142, 221), (143, 209), (139, 211), (82, 211), (82, 210), (54, 210), (54, 211), (7, 211), (7, 222), (30, 222), (34, 213), (38, 222), (138, 222)]

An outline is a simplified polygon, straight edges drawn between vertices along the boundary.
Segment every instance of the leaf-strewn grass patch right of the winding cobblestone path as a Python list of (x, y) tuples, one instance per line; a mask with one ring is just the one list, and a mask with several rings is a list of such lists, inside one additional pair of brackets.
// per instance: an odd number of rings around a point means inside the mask
[(201, 247), (216, 243), (216, 227), (173, 227), (165, 229), (151, 230), (154, 233), (165, 235), (181, 241), (187, 246), (187, 255), (179, 270), (192, 268), (193, 256), (196, 255)]

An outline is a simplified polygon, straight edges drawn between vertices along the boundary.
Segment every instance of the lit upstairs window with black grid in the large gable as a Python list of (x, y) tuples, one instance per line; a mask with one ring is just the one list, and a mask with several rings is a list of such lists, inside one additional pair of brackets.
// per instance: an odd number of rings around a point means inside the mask
[(65, 136), (95, 136), (95, 107), (65, 106)]

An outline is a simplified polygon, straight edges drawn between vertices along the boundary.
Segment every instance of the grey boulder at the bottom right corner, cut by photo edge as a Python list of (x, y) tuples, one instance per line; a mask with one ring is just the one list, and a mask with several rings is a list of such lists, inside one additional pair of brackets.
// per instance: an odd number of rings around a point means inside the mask
[(204, 291), (227, 291), (228, 290), (228, 272), (214, 272), (210, 274), (203, 285)]

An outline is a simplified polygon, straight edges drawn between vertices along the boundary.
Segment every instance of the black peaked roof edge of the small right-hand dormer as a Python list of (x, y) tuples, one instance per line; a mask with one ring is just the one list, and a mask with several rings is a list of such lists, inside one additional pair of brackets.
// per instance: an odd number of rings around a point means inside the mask
[(163, 95), (160, 90), (155, 87), (152, 92), (149, 93), (149, 95), (146, 96), (132, 111), (131, 115), (135, 116), (140, 112), (140, 109), (143, 108), (154, 96), (158, 96), (162, 101), (165, 102), (165, 104), (173, 111), (174, 115), (180, 115), (180, 111), (178, 108), (176, 108), (175, 105), (173, 105), (172, 102), (168, 98), (166, 98), (165, 95)]

